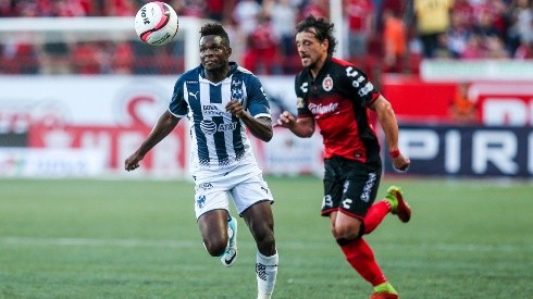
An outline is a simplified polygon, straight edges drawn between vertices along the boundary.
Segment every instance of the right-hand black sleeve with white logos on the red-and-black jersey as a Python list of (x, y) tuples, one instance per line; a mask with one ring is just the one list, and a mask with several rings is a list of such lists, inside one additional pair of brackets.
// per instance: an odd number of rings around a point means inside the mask
[(369, 107), (380, 96), (367, 74), (354, 65), (345, 66), (345, 72), (339, 74), (339, 82), (342, 91), (361, 107)]

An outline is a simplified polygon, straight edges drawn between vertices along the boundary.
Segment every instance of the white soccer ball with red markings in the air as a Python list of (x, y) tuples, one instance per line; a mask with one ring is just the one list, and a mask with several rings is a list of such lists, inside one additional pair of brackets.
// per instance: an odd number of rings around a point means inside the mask
[(137, 36), (152, 46), (163, 46), (172, 41), (177, 28), (177, 13), (164, 2), (146, 3), (135, 15)]

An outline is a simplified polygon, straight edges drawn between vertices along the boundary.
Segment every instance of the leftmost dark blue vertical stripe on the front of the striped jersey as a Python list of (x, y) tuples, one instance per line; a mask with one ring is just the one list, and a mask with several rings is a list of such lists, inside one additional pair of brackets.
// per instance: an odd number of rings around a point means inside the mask
[[(200, 165), (209, 165), (209, 150), (206, 135), (201, 132), (203, 115), (201, 112), (201, 102), (200, 102), (200, 85), (188, 84), (187, 83), (187, 92), (188, 94), (188, 102), (189, 108), (193, 111), (193, 123), (196, 135), (196, 144), (198, 147), (198, 161)], [(191, 96), (196, 95), (196, 97)]]

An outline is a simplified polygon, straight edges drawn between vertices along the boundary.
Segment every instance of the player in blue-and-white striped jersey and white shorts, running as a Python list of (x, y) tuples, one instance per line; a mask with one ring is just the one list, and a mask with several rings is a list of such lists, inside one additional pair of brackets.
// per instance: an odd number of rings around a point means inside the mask
[(253, 157), (247, 130), (268, 142), (272, 138), (269, 101), (260, 80), (230, 62), (227, 33), (219, 24), (200, 30), (201, 64), (184, 73), (174, 86), (169, 110), (140, 147), (125, 161), (133, 171), (177, 123), (190, 126), (190, 172), (196, 184), (195, 212), (208, 252), (233, 264), (237, 253), (237, 221), (230, 199), (257, 244), (258, 298), (270, 298), (277, 275), (273, 198)]

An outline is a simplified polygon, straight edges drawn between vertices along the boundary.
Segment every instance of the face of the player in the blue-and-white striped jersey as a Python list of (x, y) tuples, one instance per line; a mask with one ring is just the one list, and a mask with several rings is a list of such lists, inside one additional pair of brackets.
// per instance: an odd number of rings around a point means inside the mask
[(232, 49), (218, 35), (200, 38), (200, 62), (207, 71), (214, 71), (227, 65)]

